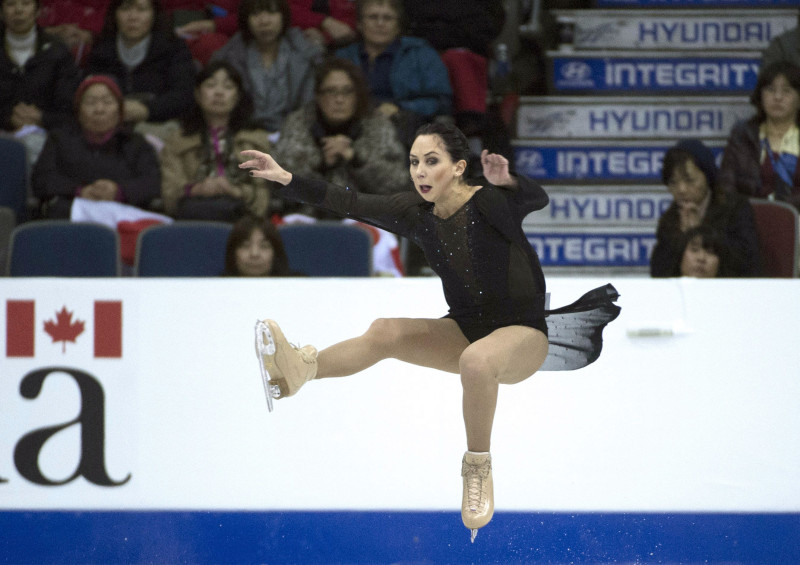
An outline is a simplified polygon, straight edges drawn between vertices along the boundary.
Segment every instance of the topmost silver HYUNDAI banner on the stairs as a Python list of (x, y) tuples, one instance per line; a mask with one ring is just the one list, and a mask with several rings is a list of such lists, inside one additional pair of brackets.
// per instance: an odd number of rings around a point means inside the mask
[(797, 25), (796, 9), (555, 10), (561, 47), (763, 50)]

